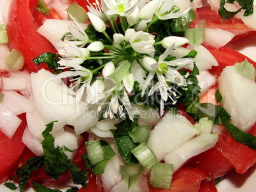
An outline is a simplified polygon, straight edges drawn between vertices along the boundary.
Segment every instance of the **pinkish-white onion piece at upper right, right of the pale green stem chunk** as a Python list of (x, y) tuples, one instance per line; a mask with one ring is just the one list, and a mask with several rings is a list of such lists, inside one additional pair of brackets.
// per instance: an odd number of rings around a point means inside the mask
[(234, 38), (234, 34), (229, 31), (217, 28), (205, 28), (204, 46), (212, 46), (213, 48), (221, 48)]

